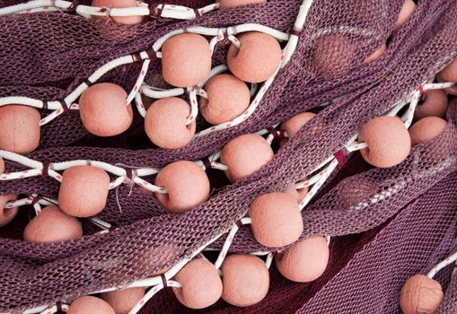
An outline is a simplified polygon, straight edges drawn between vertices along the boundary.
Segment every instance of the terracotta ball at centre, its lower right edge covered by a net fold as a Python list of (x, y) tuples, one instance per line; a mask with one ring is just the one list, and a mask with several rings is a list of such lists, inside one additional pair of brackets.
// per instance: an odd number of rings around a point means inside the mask
[(230, 181), (244, 179), (273, 159), (273, 150), (260, 135), (247, 134), (233, 138), (221, 152), (221, 162), (228, 167)]

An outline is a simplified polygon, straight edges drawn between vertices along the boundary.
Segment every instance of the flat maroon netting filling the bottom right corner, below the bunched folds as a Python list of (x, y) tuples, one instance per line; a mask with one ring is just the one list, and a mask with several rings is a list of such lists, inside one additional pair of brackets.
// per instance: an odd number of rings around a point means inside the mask
[[(292, 283), (270, 271), (267, 298), (242, 309), (217, 302), (210, 313), (400, 313), (399, 295), (411, 275), (426, 274), (457, 249), (454, 172), (372, 231), (332, 238), (330, 264), (312, 283)], [(449, 188), (453, 187), (453, 188)], [(453, 266), (435, 279), (446, 292)], [(455, 312), (455, 279), (440, 313)], [(160, 292), (142, 313), (194, 313)]]

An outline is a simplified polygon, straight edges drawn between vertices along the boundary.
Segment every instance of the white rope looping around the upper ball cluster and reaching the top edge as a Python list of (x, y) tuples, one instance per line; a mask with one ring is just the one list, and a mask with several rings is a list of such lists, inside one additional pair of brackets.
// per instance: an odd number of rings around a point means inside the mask
[[(71, 92), (69, 95), (66, 96), (63, 100), (54, 100), (54, 101), (42, 101), (42, 100), (34, 100), (28, 97), (21, 97), (21, 96), (10, 96), (10, 97), (4, 97), (0, 98), (0, 106), (4, 105), (10, 105), (10, 104), (19, 104), (19, 105), (28, 105), (31, 107), (35, 108), (40, 108), (40, 109), (52, 109), (54, 110), (51, 114), (49, 114), (47, 117), (43, 118), (40, 120), (40, 126), (43, 126), (50, 121), (52, 121), (54, 118), (57, 118), (63, 113), (68, 112), (71, 109), (79, 109), (79, 105), (77, 103), (74, 103), (75, 100), (79, 98), (79, 96), (87, 89), (89, 86), (92, 85), (92, 83), (97, 82), (101, 78), (103, 74), (108, 73), (110, 70), (113, 68), (120, 66), (120, 65), (127, 65), (131, 64), (137, 61), (142, 61), (144, 60), (144, 63), (142, 65), (142, 70), (136, 80), (136, 84), (133, 87), (132, 91), (129, 92), (127, 95), (127, 105), (130, 104), (131, 100), (136, 98), (136, 107), (138, 109), (138, 112), (142, 116), (145, 115), (145, 108), (144, 105), (141, 101), (141, 97), (138, 94), (138, 91), (141, 88), (141, 85), (145, 79), (145, 74), (147, 72), (148, 65), (152, 60), (155, 60), (157, 58), (161, 58), (162, 54), (160, 51), (160, 48), (162, 48), (163, 43), (167, 40), (170, 39), (172, 36), (181, 34), (184, 32), (190, 32), (190, 33), (196, 33), (199, 35), (204, 35), (204, 36), (214, 36), (215, 38), (212, 39), (212, 47), (215, 47), (215, 43), (226, 39), (232, 39), (232, 41), (236, 42), (234, 39), (233, 35), (242, 33), (245, 31), (259, 31), (259, 32), (264, 32), (268, 35), (273, 36), (277, 40), (288, 40), (286, 44), (286, 48), (283, 49), (283, 55), (282, 55), (282, 61), (281, 64), (278, 66), (277, 71), (268, 78), (266, 82), (263, 83), (262, 88), (259, 90), (258, 94), (252, 100), (252, 103), (250, 104), (250, 107), (242, 114), (241, 117), (235, 118), (233, 121), (229, 121), (227, 123), (218, 125), (218, 126), (212, 126), (208, 128), (207, 130), (203, 130), (199, 132), (198, 134), (194, 135), (195, 137), (197, 136), (202, 136), (202, 135), (207, 135), (209, 133), (212, 133), (216, 130), (221, 130), (225, 129), (231, 126), (236, 126), (245, 119), (249, 118), (252, 112), (257, 108), (259, 105), (259, 101), (263, 98), (263, 95), (265, 92), (267, 92), (269, 85), (273, 82), (274, 78), (277, 75), (277, 72), (279, 71), (280, 68), (286, 66), (288, 61), (290, 60), (290, 57), (294, 53), (294, 49), (296, 48), (297, 42), (298, 42), (298, 36), (300, 34), (300, 31), (302, 31), (303, 28), (303, 23), (305, 21), (306, 15), (311, 7), (312, 1), (311, 0), (305, 0), (303, 1), (303, 4), (300, 8), (300, 12), (298, 13), (297, 19), (294, 23), (294, 31), (292, 34), (286, 34), (281, 31), (276, 31), (271, 28), (268, 28), (263, 25), (259, 24), (254, 24), (254, 23), (248, 23), (248, 24), (242, 24), (242, 25), (237, 25), (237, 26), (232, 26), (224, 29), (215, 29), (215, 28), (205, 28), (205, 27), (190, 27), (186, 30), (177, 30), (177, 31), (171, 31), (167, 35), (163, 36), (161, 39), (156, 40), (156, 42), (153, 45), (153, 48), (150, 48), (145, 51), (141, 51), (140, 53), (136, 54), (131, 54), (125, 57), (119, 57), (116, 58), (109, 63), (102, 65), (101, 68), (96, 70), (92, 75), (89, 76), (83, 83), (81, 83), (78, 87), (76, 87), (74, 92)], [(193, 91), (193, 90), (190, 90)], [(195, 92), (195, 91), (194, 91)], [(191, 97), (195, 97), (193, 100), (191, 100), (191, 113), (189, 117), (187, 118), (187, 125), (189, 125), (195, 118), (197, 118), (198, 114), (198, 105), (197, 105), (197, 100), (196, 96), (194, 96), (194, 92), (189, 92)]]

